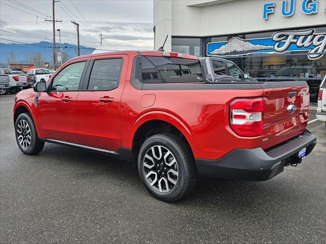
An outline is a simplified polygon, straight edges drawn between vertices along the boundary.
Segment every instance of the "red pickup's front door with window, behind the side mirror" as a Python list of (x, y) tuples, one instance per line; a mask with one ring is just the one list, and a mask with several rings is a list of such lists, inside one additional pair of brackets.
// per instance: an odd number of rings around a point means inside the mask
[(75, 105), (80, 81), (85, 76), (87, 61), (63, 68), (49, 82), (48, 92), (40, 93), (37, 103), (41, 136), (77, 143)]

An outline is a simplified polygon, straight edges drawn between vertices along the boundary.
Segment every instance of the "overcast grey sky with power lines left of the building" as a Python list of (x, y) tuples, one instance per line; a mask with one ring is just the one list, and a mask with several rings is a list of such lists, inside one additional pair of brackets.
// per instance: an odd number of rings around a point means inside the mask
[[(51, 16), (52, 0), (0, 0), (0, 37), (24, 43), (52, 40), (52, 22), (45, 21)], [(80, 24), (80, 45), (100, 46), (102, 33), (103, 46), (153, 47), (153, 0), (61, 0), (56, 19), (64, 21), (56, 23), (62, 43), (77, 44), (74, 20)], [(59, 42), (58, 32), (56, 37)]]

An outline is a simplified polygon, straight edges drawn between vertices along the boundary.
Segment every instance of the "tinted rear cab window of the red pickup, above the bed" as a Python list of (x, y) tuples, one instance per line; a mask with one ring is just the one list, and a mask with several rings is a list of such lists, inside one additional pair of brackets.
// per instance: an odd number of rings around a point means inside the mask
[(178, 57), (142, 56), (143, 83), (202, 82), (199, 60)]

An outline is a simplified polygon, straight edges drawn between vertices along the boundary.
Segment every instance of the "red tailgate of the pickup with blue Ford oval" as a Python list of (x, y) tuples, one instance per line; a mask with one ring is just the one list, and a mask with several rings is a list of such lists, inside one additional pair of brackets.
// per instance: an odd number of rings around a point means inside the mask
[[(273, 87), (273, 84), (278, 83)], [(296, 86), (297, 85), (297, 86)], [(309, 116), (309, 87), (304, 81), (269, 82), (264, 93), (263, 149), (305, 131)]]

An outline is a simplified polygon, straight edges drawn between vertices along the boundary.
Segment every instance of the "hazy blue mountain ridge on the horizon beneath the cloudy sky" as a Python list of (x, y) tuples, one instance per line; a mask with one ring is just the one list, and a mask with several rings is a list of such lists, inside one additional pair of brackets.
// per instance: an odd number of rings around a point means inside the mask
[[(44, 57), (44, 62), (53, 62), (53, 51), (52, 51), (52, 46), (53, 44), (51, 42), (38, 42), (38, 43), (31, 43), (32, 45), (28, 44), (17, 44), (17, 43), (0, 43), (0, 63), (1, 64), (7, 64), (7, 57), (8, 54), (13, 52), (15, 56), (15, 61), (16, 63), (25, 63), (26, 62), (26, 57), (25, 53), (36, 53), (40, 52), (43, 54)], [(35, 46), (33, 46), (35, 45)], [(59, 48), (60, 44), (56, 43), (57, 51), (60, 50)], [(62, 43), (62, 52), (67, 54), (69, 59), (71, 57), (77, 56), (77, 46), (72, 45), (69, 43)], [(67, 47), (67, 48), (65, 48)], [(84, 48), (89, 48), (85, 46), (80, 46), (80, 55), (84, 54), (90, 54), (92, 53), (95, 49), (84, 49)]]

